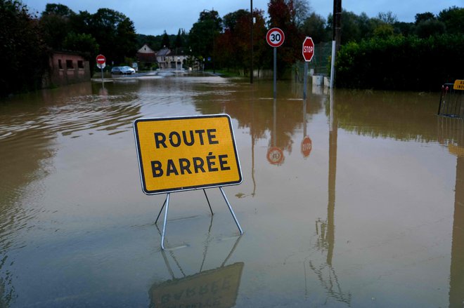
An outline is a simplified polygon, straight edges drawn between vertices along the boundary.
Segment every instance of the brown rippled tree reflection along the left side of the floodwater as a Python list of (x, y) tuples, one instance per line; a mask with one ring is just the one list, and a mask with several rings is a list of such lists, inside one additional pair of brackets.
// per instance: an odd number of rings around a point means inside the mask
[(101, 96), (91, 93), (90, 83), (79, 83), (18, 95), (0, 105), (0, 307), (18, 296), (9, 252), (25, 244), (20, 233), (43, 210), (29, 203), (40, 198), (41, 180), (53, 169), (56, 136), (91, 129), (114, 133), (139, 114), (139, 106), (127, 106), (134, 95), (102, 104)]

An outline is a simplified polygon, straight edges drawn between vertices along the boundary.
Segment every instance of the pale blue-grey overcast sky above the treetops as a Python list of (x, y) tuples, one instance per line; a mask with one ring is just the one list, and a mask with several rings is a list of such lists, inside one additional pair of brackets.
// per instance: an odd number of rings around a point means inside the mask
[[(253, 7), (267, 11), (269, 0), (254, 0)], [(133, 22), (138, 34), (177, 34), (179, 28), (190, 31), (200, 12), (207, 9), (222, 17), (240, 8), (250, 10), (245, 0), (22, 0), (32, 12), (41, 13), (47, 3), (64, 4), (79, 13), (96, 13), (98, 8), (111, 8), (123, 13)], [(309, 6), (324, 18), (333, 11), (333, 0), (309, 0)], [(416, 13), (439, 13), (450, 6), (464, 7), (464, 0), (342, 0), (347, 11), (369, 17), (392, 11), (399, 21), (413, 22)]]

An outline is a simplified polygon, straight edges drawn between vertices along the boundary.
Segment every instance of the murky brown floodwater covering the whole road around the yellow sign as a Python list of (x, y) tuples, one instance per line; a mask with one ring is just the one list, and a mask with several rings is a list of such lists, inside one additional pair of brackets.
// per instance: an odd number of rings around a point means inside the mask
[[(463, 307), (464, 125), (439, 93), (272, 92), (172, 75), (0, 102), (0, 307)], [(132, 123), (222, 113), (244, 234), (218, 188), (214, 215), (173, 193), (161, 250)]]

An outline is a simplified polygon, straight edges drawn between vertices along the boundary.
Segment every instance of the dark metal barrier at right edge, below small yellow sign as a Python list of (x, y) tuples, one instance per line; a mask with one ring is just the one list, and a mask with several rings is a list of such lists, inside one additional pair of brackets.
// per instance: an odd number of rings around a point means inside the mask
[(449, 116), (453, 118), (464, 117), (464, 91), (456, 90), (453, 83), (445, 83), (442, 86), (442, 95), (438, 105), (438, 114), (440, 116)]

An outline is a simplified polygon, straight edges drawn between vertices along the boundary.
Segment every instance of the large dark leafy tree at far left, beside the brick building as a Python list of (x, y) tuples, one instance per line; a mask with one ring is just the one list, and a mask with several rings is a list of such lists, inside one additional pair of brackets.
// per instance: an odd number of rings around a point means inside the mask
[(0, 96), (41, 87), (48, 53), (37, 19), (20, 1), (0, 0)]

